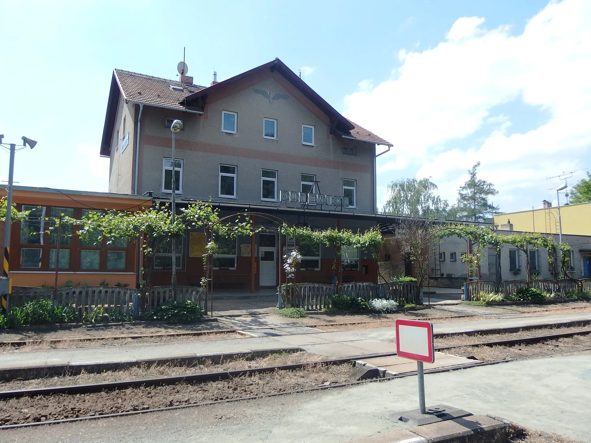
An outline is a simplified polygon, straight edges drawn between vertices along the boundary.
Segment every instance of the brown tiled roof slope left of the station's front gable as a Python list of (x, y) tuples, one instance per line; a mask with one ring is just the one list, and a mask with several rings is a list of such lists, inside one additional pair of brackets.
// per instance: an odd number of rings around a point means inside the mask
[[(143, 102), (152, 106), (163, 106), (178, 110), (200, 111), (195, 106), (185, 108), (184, 97), (205, 89), (205, 86), (189, 86), (175, 80), (161, 79), (144, 74), (115, 69), (115, 76), (126, 99)], [(171, 86), (182, 87), (183, 91), (174, 91)]]

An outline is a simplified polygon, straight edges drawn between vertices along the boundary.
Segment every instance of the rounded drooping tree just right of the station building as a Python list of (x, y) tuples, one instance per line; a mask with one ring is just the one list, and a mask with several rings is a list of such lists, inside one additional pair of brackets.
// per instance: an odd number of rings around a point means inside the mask
[(444, 219), (447, 217), (447, 200), (433, 194), (437, 185), (429, 178), (402, 178), (388, 185), (388, 201), (384, 212), (398, 216)]

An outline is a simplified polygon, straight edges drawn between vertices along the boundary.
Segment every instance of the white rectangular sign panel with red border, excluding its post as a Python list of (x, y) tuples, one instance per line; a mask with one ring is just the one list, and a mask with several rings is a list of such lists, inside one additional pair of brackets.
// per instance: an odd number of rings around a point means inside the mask
[(433, 324), (430, 321), (397, 320), (396, 352), (405, 359), (433, 363)]

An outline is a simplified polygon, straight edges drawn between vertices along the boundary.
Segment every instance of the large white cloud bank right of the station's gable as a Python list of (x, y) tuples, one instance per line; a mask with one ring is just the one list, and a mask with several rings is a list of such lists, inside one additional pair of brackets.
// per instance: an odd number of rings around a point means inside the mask
[[(557, 183), (547, 177), (591, 167), (591, 2), (550, 2), (521, 35), (462, 17), (436, 47), (398, 55), (397, 76), (375, 87), (362, 82), (345, 98), (345, 115), (394, 144), (379, 159), (378, 183), (416, 172), (454, 201), (467, 169), (480, 161), (480, 175), (499, 190), (495, 204), (519, 210), (551, 197)], [(511, 133), (511, 118), (490, 112), (512, 100), (550, 119)], [(453, 147), (488, 126), (469, 148)]]

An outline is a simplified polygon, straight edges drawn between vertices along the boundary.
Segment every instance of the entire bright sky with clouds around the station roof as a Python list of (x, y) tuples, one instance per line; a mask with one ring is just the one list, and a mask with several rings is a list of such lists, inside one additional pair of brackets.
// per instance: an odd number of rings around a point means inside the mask
[(380, 202), (390, 181), (426, 176), (453, 201), (481, 161), (502, 210), (538, 207), (558, 184), (546, 177), (591, 167), (590, 15), (576, 0), (2, 1), (0, 133), (39, 142), (17, 154), (18, 184), (106, 191), (113, 68), (176, 78), (186, 47), (209, 84), (214, 69), (223, 80), (279, 57), (395, 144), (379, 158)]

